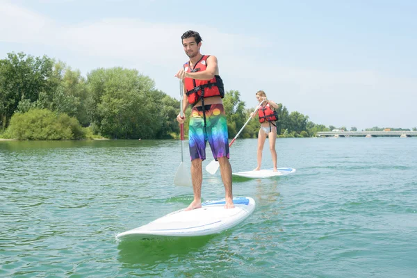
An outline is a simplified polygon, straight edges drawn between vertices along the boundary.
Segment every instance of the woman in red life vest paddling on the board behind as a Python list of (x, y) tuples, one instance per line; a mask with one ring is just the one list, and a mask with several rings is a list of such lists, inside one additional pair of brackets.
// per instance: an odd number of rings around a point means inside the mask
[[(277, 172), (277, 152), (275, 151), (275, 140), (277, 140), (276, 121), (278, 120), (278, 115), (275, 109), (279, 108), (279, 105), (272, 100), (268, 100), (265, 92), (263, 91), (256, 92), (256, 99), (259, 103), (262, 101), (263, 103), (258, 110), (261, 128), (259, 129), (258, 134), (258, 167), (256, 167), (254, 171), (261, 170), (263, 145), (265, 144), (266, 136), (268, 136), (272, 154), (272, 163), (274, 164), (274, 172)], [(254, 117), (253, 112), (251, 113), (251, 116)]]

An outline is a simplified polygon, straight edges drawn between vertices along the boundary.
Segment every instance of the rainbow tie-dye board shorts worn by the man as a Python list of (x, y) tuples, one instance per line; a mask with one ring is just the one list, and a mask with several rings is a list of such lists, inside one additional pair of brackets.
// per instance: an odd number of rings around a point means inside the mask
[(195, 158), (206, 159), (207, 140), (216, 161), (219, 157), (229, 158), (229, 136), (223, 104), (206, 105), (204, 108), (206, 110), (206, 134), (204, 134), (202, 106), (194, 107), (191, 111), (188, 130), (190, 158), (192, 161)]

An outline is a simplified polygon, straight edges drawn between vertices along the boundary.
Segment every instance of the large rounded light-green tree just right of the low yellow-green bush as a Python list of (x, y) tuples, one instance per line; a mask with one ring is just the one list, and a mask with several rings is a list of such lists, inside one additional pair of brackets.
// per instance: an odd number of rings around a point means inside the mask
[(154, 138), (162, 123), (155, 115), (158, 111), (155, 102), (158, 99), (145, 95), (154, 90), (152, 80), (136, 70), (121, 67), (99, 69), (90, 73), (88, 78), (101, 82), (99, 88), (102, 90), (92, 92), (98, 102), (91, 114), (102, 136)]

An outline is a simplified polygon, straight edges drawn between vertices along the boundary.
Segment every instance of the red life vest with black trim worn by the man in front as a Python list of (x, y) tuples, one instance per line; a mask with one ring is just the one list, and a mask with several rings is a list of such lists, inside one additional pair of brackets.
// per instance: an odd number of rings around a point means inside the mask
[[(209, 55), (203, 55), (202, 58), (195, 63), (191, 69), (188, 61), (183, 65), (185, 72), (202, 72), (207, 68), (207, 58)], [(190, 104), (197, 104), (202, 97), (224, 97), (224, 86), (220, 76), (215, 75), (211, 80), (197, 80), (186, 77), (184, 79), (186, 86), (186, 95)]]

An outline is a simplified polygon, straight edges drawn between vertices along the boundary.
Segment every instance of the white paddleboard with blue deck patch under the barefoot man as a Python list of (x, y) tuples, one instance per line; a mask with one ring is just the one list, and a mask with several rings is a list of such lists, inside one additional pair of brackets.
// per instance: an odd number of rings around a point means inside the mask
[(224, 199), (208, 201), (201, 208), (174, 211), (149, 224), (117, 234), (117, 239), (161, 238), (167, 236), (206, 236), (230, 229), (255, 209), (251, 197), (234, 197), (234, 208), (224, 208)]

